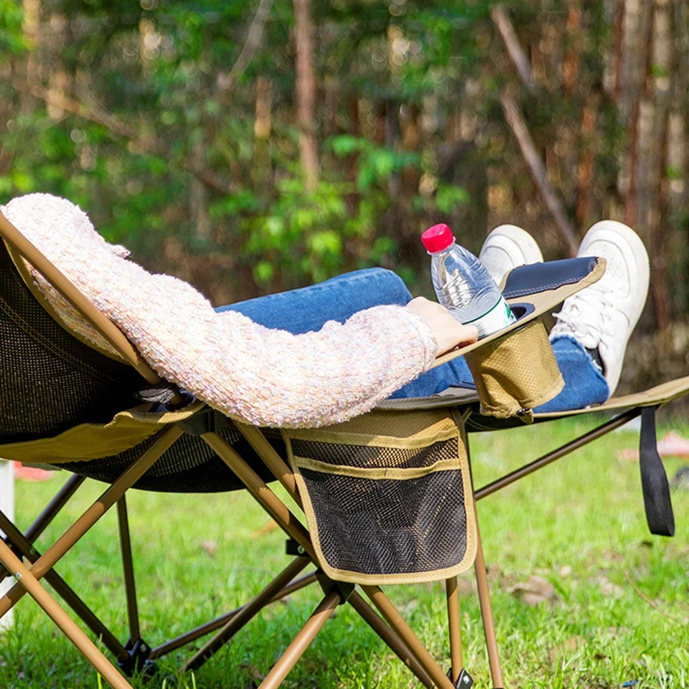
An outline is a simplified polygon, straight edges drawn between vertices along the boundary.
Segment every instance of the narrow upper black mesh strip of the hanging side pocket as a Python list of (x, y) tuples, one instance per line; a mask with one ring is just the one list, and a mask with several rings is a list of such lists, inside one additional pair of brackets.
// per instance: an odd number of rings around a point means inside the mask
[(359, 469), (421, 469), (440, 460), (457, 457), (457, 439), (434, 442), (427, 447), (392, 448), (372, 445), (347, 445), (313, 440), (291, 440), (298, 457)]

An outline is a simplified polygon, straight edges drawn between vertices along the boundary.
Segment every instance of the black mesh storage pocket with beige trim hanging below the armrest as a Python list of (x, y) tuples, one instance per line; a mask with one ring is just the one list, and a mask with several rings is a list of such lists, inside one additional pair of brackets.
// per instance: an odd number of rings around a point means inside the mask
[(372, 411), (282, 434), (318, 564), (331, 579), (426, 582), (473, 564), (464, 432), (449, 411)]

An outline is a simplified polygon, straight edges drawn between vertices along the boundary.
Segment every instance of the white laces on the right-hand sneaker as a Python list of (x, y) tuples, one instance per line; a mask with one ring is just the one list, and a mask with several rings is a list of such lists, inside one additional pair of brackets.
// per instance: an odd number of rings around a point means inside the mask
[(605, 336), (612, 335), (615, 309), (614, 291), (605, 285), (591, 285), (564, 302), (562, 311), (553, 313), (557, 325), (569, 331), (584, 347), (594, 349)]

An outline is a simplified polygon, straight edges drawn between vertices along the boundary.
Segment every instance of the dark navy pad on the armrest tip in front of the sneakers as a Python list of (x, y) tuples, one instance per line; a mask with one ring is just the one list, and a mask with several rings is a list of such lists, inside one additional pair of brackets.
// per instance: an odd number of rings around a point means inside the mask
[(508, 274), (502, 294), (506, 299), (513, 299), (573, 285), (583, 280), (596, 267), (597, 261), (595, 256), (582, 256), (521, 265)]

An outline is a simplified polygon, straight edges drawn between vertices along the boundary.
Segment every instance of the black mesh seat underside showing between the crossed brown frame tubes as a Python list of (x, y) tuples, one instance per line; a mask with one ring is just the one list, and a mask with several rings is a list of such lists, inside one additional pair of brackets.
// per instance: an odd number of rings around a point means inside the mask
[[(68, 469), (82, 476), (112, 483), (156, 442), (161, 433), (147, 438), (141, 444), (119, 455), (89, 462), (68, 462), (59, 466), (61, 469)], [(285, 443), (279, 431), (264, 429), (264, 433), (276, 451), (284, 457)], [(234, 425), (220, 429), (218, 435), (231, 444), (265, 482), (275, 480), (263, 460)], [(185, 433), (163, 453), (133, 487), (141, 491), (161, 493), (222, 493), (243, 489), (245, 486), (203, 438)]]

